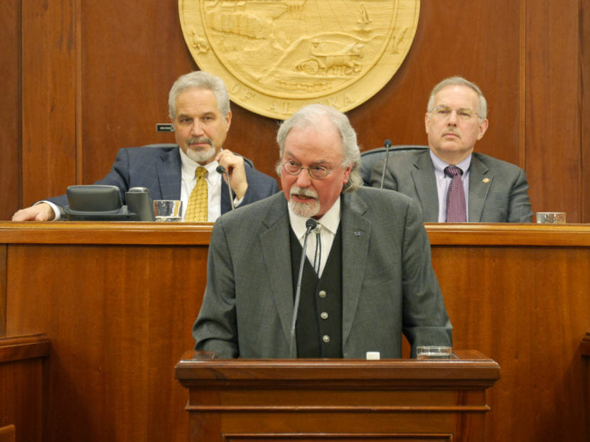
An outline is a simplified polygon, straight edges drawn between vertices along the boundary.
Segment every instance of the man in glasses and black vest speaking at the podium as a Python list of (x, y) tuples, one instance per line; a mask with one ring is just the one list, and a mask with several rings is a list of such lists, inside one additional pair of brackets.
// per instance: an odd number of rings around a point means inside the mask
[(402, 356), (402, 333), (414, 357), (418, 345), (451, 346), (419, 208), (361, 186), (348, 118), (311, 104), (281, 124), (277, 142), (283, 193), (213, 227), (195, 349), (392, 358)]

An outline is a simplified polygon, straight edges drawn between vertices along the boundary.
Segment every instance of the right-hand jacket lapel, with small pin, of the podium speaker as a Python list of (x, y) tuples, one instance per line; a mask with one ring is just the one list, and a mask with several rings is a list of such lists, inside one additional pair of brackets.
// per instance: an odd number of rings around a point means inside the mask
[(371, 222), (363, 215), (367, 205), (358, 193), (343, 193), (342, 225), (342, 342), (353, 326), (367, 265)]

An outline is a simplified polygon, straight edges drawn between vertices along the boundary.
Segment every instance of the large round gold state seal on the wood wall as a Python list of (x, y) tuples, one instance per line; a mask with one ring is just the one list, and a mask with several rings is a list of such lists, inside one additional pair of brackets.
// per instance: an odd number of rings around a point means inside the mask
[(375, 95), (402, 64), (419, 0), (178, 0), (200, 69), (232, 101), (285, 119), (306, 104), (341, 112)]

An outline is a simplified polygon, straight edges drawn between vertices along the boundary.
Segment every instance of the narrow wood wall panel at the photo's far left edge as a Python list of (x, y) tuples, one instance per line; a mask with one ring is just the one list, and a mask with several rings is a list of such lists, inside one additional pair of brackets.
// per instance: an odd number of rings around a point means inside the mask
[(10, 220), (21, 199), (20, 23), (21, 1), (0, 2), (0, 220)]

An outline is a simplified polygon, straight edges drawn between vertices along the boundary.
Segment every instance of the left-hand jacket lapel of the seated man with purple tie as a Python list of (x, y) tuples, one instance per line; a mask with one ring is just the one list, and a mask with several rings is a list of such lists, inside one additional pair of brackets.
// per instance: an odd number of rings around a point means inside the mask
[(434, 165), (430, 158), (430, 151), (422, 151), (417, 154), (412, 179), (418, 194), (419, 203), (422, 205), (424, 222), (439, 221), (439, 193), (436, 190), (436, 177)]

